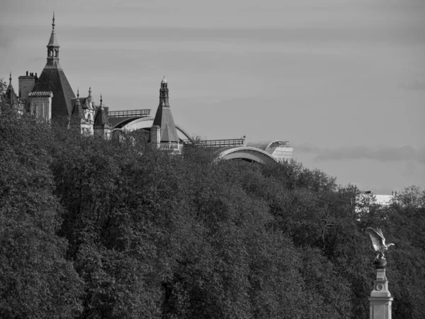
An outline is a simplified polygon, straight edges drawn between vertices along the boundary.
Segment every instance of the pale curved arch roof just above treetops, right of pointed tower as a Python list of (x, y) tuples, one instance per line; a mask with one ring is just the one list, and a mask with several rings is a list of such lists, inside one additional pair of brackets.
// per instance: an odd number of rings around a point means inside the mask
[(245, 159), (249, 162), (258, 162), (261, 164), (277, 162), (268, 152), (250, 146), (227, 147), (219, 150), (218, 159)]

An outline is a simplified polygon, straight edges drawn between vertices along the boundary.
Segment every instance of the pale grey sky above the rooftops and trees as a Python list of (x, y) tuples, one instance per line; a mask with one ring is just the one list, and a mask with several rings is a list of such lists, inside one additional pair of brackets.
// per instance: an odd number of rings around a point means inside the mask
[(289, 140), (375, 194), (425, 187), (424, 0), (2, 0), (0, 78), (42, 72), (55, 11), (74, 92), (192, 135)]

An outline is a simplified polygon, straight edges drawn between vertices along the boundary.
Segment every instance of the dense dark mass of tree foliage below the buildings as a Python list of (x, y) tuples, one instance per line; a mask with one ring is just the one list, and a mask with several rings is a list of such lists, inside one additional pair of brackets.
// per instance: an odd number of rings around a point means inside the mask
[(1, 318), (368, 318), (365, 228), (395, 242), (393, 318), (422, 318), (425, 192), (356, 211), (297, 162), (173, 156), (0, 113)]

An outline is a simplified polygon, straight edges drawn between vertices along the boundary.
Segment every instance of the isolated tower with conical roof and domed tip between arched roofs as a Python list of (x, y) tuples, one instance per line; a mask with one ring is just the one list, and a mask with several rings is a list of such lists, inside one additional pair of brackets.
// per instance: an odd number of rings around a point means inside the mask
[(174, 118), (169, 105), (169, 89), (166, 79), (162, 79), (159, 89), (159, 106), (151, 128), (151, 141), (163, 150), (181, 152), (183, 145), (177, 135)]

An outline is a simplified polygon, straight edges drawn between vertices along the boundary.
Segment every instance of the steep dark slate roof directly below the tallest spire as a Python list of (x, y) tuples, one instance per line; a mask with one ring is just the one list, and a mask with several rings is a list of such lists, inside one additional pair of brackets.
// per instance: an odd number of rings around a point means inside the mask
[(45, 67), (34, 86), (36, 91), (52, 91), (52, 118), (71, 115), (75, 94), (62, 69)]

